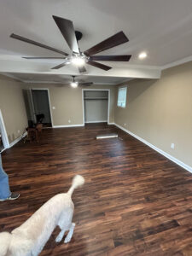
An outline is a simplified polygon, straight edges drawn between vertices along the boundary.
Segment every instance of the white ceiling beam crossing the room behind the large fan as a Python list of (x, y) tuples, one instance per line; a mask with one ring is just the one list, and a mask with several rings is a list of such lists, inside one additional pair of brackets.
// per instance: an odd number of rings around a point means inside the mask
[[(57, 62), (58, 63), (58, 62)], [(59, 63), (58, 63), (59, 64)], [(161, 69), (160, 67), (146, 67), (136, 66), (129, 64), (118, 63), (115, 67), (115, 63), (111, 64), (112, 69), (108, 72), (96, 67), (88, 67), (88, 72), (83, 75), (100, 76), (100, 77), (117, 77), (117, 78), (132, 78), (132, 79), (160, 79)], [(79, 75), (78, 68), (70, 66), (63, 67), (59, 70), (50, 69), (54, 67), (55, 63), (47, 63), (40, 61), (28, 61), (21, 59), (20, 57), (3, 58), (0, 56), (0, 73), (38, 73), (38, 74), (58, 74), (58, 75)]]

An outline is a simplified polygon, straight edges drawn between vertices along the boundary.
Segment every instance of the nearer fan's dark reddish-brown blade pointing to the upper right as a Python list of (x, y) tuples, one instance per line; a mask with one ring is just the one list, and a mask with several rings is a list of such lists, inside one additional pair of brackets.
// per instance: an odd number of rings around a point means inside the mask
[(91, 47), (90, 49), (87, 49), (84, 51), (85, 55), (96, 55), (96, 53), (99, 53), (105, 49), (113, 48), (114, 46), (117, 46), (119, 44), (124, 44), (128, 42), (129, 39), (125, 36), (124, 32), (118, 32), (112, 37), (102, 41), (99, 44), (96, 44), (95, 46)]

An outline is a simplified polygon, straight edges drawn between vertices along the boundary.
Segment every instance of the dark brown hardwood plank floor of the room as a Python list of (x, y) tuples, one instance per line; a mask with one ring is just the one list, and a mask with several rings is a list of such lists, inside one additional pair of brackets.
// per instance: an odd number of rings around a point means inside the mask
[[(109, 132), (119, 138), (95, 139)], [(0, 231), (85, 178), (72, 241), (56, 244), (56, 228), (41, 256), (192, 255), (192, 174), (113, 125), (44, 130), (40, 143), (3, 152), (3, 166), (20, 199), (0, 203)]]

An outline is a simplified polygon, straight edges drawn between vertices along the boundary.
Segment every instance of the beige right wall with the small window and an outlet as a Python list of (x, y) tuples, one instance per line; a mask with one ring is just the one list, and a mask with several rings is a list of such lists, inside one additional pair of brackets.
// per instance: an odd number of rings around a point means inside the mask
[(126, 108), (116, 106), (116, 88), (115, 123), (192, 166), (192, 62), (127, 84)]

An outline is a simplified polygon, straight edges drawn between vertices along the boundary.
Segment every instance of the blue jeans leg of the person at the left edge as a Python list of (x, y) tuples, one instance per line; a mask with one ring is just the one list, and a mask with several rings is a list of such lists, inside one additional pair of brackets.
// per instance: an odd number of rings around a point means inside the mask
[(0, 199), (6, 199), (10, 195), (11, 192), (9, 189), (9, 177), (3, 170), (2, 157), (0, 153)]

